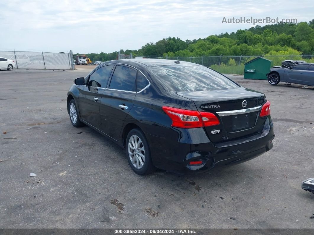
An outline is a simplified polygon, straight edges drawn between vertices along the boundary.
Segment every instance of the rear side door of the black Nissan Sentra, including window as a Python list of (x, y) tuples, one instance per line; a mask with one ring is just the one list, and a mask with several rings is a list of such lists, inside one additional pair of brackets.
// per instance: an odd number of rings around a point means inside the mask
[(110, 85), (101, 95), (102, 131), (115, 140), (118, 140), (124, 120), (134, 104), (136, 74), (133, 67), (116, 65)]

